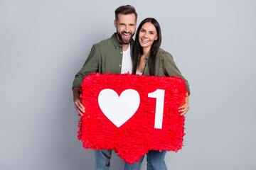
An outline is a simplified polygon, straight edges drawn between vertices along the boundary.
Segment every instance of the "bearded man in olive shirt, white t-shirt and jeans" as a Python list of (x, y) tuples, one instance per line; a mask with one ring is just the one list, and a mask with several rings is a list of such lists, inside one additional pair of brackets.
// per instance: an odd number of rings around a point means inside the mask
[[(137, 12), (133, 6), (120, 6), (115, 11), (114, 27), (117, 33), (92, 46), (90, 55), (73, 81), (75, 109), (82, 116), (84, 106), (79, 99), (79, 89), (83, 77), (94, 72), (117, 74), (132, 73), (132, 37), (137, 27)], [(112, 151), (95, 150), (95, 170), (108, 169)]]

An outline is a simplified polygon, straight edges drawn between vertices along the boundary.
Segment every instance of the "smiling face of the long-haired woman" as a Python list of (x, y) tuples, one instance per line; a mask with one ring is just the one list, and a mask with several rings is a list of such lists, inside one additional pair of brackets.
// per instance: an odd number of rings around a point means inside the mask
[(144, 23), (142, 28), (139, 30), (139, 44), (144, 47), (151, 47), (154, 40), (157, 40), (158, 35), (156, 28), (152, 23)]

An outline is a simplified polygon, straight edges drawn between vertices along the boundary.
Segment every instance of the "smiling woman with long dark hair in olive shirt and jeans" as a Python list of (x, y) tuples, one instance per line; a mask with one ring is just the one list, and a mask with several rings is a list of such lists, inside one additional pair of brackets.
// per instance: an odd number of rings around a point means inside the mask
[[(157, 77), (182, 77), (176, 67), (173, 57), (159, 48), (161, 45), (161, 28), (154, 18), (146, 18), (139, 24), (134, 42), (133, 74), (150, 75)], [(183, 77), (182, 77), (183, 78)], [(186, 79), (185, 79), (186, 81)], [(186, 88), (189, 91), (188, 81)], [(181, 106), (179, 112), (185, 115), (188, 112), (188, 94), (185, 105)], [(150, 150), (146, 154), (147, 170), (165, 170), (164, 162), (166, 151)], [(140, 169), (142, 157), (139, 162), (125, 164), (124, 169)]]

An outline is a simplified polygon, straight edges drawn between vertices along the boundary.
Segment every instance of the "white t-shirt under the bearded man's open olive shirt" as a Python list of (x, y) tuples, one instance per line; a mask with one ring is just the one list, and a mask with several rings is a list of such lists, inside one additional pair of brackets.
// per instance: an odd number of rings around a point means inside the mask
[(121, 74), (129, 72), (132, 74), (132, 57), (131, 57), (131, 48), (130, 45), (126, 51), (123, 50), (122, 54), (122, 68)]

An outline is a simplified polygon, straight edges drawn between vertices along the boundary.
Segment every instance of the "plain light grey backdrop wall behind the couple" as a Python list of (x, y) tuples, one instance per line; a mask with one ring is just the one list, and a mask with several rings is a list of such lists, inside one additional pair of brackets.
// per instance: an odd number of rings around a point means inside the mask
[[(191, 85), (186, 142), (168, 168), (256, 169), (255, 0), (0, 0), (0, 169), (93, 169), (71, 86), (126, 4), (138, 23), (159, 21), (161, 47)], [(111, 170), (123, 165), (113, 154)]]

